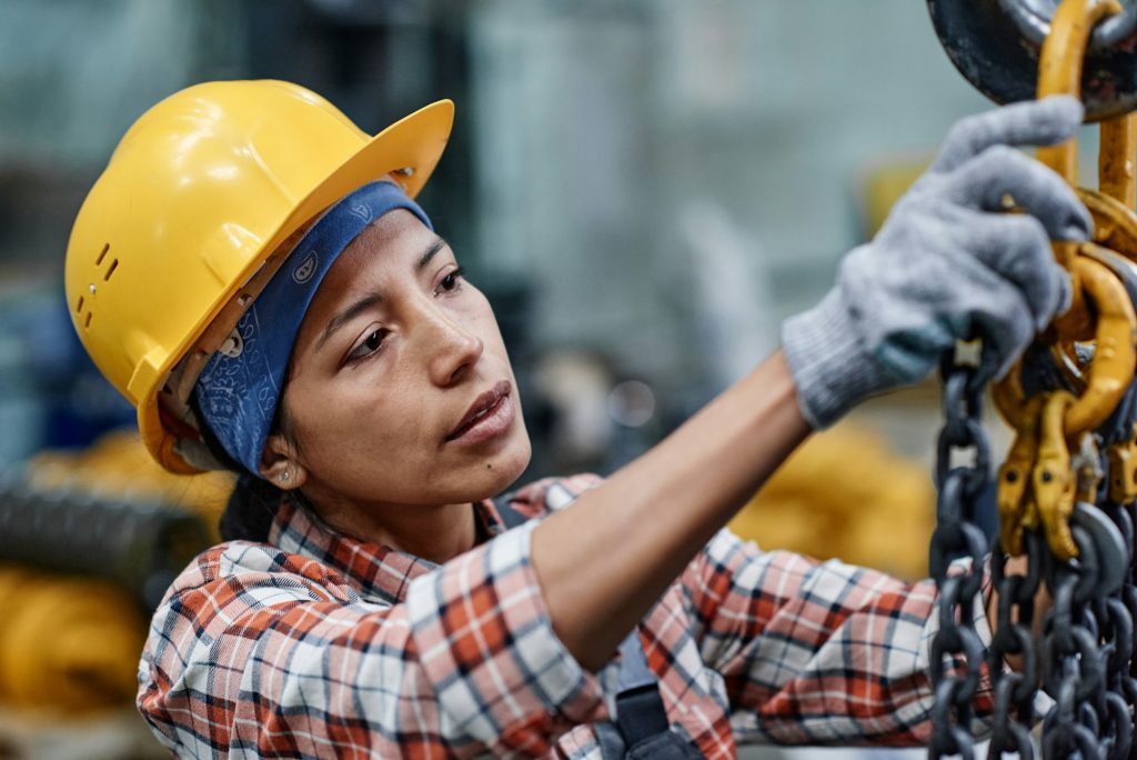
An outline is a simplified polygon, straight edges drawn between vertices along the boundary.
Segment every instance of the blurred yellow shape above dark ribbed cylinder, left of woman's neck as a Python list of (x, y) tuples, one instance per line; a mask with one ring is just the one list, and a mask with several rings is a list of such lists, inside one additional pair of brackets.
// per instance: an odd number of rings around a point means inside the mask
[(174, 474), (147, 452), (133, 430), (105, 433), (81, 452), (48, 451), (27, 464), (28, 485), (40, 490), (77, 489), (111, 498), (151, 499), (182, 506), (202, 519), (214, 542), (235, 477), (230, 472)]

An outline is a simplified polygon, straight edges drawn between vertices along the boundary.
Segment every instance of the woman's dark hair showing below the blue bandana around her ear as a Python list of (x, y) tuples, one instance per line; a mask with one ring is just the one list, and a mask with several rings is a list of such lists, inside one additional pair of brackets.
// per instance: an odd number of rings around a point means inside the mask
[[(198, 419), (201, 428), (201, 441), (209, 449), (215, 460), (231, 472), (235, 472), (236, 485), (225, 504), (225, 511), (218, 521), (222, 540), (268, 540), (268, 531), (272, 528), (276, 510), (280, 509), (284, 499), (292, 498), (292, 491), (283, 490), (265, 480), (259, 474), (249, 472), (240, 462), (230, 456), (213, 429), (206, 422), (205, 416), (198, 405), (198, 395), (190, 395), (190, 407)], [(269, 435), (282, 432), (294, 440), (292, 423), (284, 410), (283, 398), (276, 406), (276, 415), (269, 429)]]

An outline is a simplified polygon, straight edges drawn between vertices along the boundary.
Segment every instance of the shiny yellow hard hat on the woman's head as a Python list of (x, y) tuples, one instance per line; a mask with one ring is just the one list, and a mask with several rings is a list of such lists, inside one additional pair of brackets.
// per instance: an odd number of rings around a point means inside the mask
[(453, 122), (441, 100), (370, 137), (315, 92), (265, 80), (197, 84), (131, 126), (75, 220), (65, 279), (83, 346), (163, 466), (200, 469), (179, 445), (197, 438), (193, 382), (285, 243), (383, 175), (413, 198)]

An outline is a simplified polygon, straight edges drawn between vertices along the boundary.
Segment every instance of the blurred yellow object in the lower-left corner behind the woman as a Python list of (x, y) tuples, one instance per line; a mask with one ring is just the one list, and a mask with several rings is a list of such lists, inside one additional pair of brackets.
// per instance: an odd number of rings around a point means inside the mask
[(0, 568), (0, 702), (91, 712), (128, 704), (147, 622), (113, 584)]

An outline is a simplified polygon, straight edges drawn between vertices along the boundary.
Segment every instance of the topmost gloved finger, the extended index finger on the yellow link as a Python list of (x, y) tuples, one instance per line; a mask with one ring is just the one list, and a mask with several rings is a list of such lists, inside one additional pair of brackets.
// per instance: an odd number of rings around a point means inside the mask
[(1052, 146), (1081, 125), (1085, 109), (1070, 96), (1003, 106), (961, 119), (948, 132), (931, 172), (951, 172), (991, 146)]

